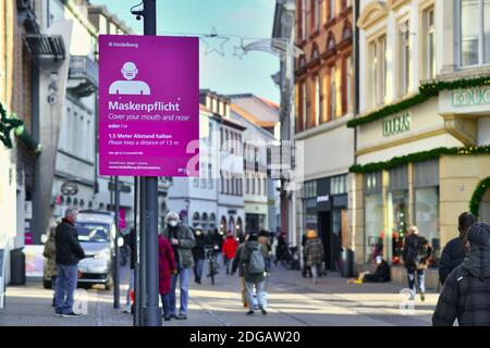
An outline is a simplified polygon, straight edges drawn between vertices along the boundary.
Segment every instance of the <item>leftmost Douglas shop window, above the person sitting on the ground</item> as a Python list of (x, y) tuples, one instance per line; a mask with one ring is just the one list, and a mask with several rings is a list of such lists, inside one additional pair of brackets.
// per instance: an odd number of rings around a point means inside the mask
[(373, 262), (383, 254), (383, 197), (381, 194), (365, 196), (365, 256), (366, 262)]

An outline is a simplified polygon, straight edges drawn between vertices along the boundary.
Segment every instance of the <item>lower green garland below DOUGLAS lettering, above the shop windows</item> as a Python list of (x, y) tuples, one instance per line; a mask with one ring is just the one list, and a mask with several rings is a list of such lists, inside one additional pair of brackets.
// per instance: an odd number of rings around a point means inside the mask
[(375, 162), (365, 165), (352, 165), (348, 171), (351, 173), (366, 174), (370, 172), (388, 171), (399, 165), (404, 165), (414, 162), (422, 162), (440, 158), (441, 156), (475, 156), (475, 154), (490, 154), (490, 145), (487, 146), (470, 146), (470, 147), (455, 147), (455, 148), (436, 148), (428, 151), (415, 152), (407, 156), (394, 157), (385, 162)]

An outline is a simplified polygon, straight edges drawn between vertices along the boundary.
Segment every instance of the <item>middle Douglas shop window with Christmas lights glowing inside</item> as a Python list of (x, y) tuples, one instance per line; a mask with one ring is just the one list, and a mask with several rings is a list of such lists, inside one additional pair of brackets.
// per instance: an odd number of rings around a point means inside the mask
[(389, 227), (391, 232), (391, 262), (400, 264), (403, 240), (407, 229), (408, 191), (392, 191), (388, 195)]

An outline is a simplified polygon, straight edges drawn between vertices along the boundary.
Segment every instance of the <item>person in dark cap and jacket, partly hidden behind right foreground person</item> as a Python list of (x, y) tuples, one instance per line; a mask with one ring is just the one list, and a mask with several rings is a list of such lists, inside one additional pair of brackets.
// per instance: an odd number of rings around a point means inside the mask
[(439, 281), (444, 285), (444, 281), (455, 268), (457, 268), (464, 260), (467, 248), (468, 228), (476, 222), (475, 215), (465, 212), (460, 215), (457, 229), (460, 236), (451, 239), (444, 247), (439, 260)]

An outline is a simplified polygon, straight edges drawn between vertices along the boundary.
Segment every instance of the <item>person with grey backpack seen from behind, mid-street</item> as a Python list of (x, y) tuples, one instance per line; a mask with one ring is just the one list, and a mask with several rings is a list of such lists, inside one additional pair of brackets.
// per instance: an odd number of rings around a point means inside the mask
[(259, 309), (267, 314), (266, 300), (264, 299), (267, 249), (259, 244), (258, 235), (252, 234), (245, 243), (241, 260), (244, 268), (245, 288), (247, 290), (248, 312), (254, 314), (254, 294), (257, 296)]

